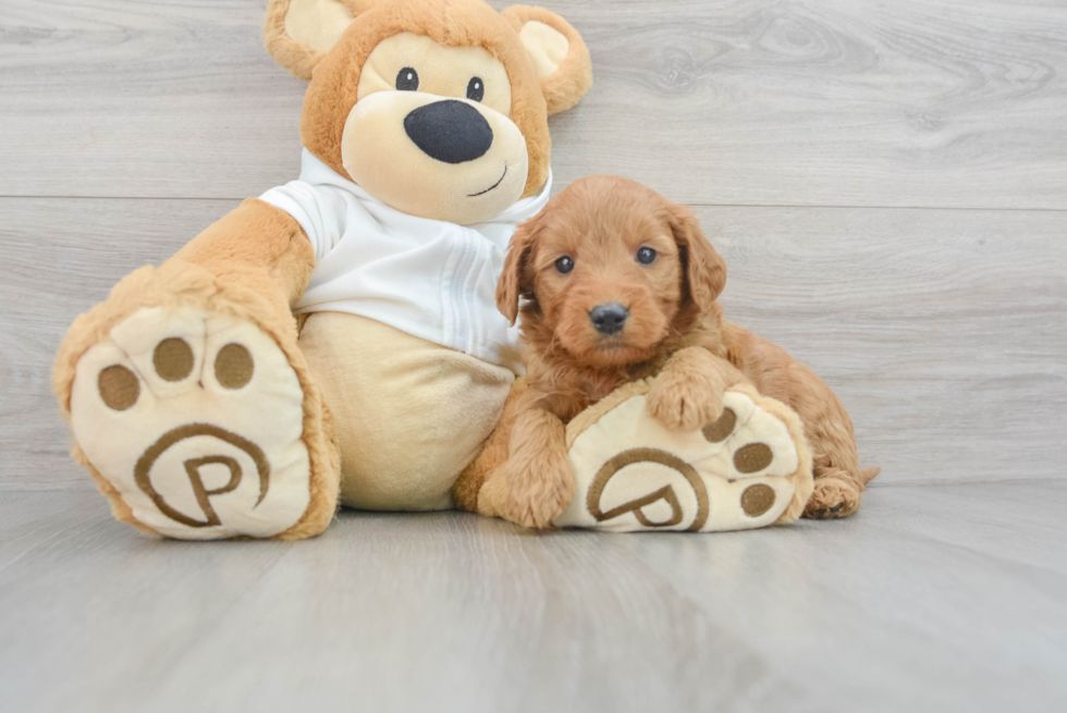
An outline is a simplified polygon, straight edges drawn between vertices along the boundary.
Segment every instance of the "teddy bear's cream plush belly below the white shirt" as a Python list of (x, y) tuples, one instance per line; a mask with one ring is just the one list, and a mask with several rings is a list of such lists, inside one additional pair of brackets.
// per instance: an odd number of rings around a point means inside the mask
[(500, 421), (510, 370), (343, 312), (311, 314), (301, 345), (336, 420), (344, 505), (465, 507), (452, 489)]

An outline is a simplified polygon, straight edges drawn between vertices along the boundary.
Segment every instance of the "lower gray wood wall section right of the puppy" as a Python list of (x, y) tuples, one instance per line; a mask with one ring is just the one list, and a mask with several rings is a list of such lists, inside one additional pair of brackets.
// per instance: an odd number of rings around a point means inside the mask
[(726, 316), (819, 373), (880, 483), (1059, 478), (1056, 212), (703, 208)]

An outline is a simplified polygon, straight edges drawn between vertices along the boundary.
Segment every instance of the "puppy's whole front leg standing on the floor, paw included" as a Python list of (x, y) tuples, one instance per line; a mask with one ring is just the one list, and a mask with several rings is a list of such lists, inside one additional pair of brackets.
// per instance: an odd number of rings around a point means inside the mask
[(512, 431), (507, 463), (483, 490), (495, 495), (493, 507), (501, 517), (524, 527), (551, 527), (575, 491), (563, 421), (541, 408), (523, 411)]

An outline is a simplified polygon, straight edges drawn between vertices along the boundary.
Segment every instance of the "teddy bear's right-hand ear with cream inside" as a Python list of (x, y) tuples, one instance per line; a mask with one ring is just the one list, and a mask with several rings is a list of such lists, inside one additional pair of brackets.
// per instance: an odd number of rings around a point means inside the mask
[(515, 5), (503, 13), (534, 60), (541, 93), (554, 114), (578, 103), (592, 86), (592, 62), (581, 35), (543, 8)]

